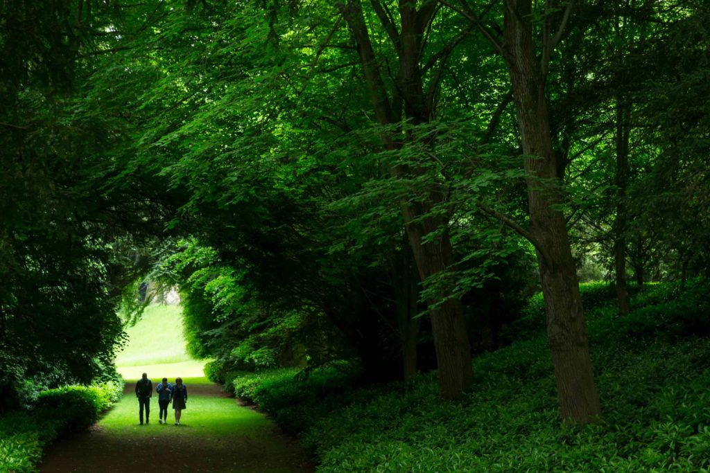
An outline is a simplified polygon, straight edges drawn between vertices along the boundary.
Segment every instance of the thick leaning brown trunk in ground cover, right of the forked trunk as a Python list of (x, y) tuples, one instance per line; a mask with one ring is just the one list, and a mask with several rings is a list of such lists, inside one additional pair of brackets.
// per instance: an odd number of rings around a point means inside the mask
[(530, 0), (506, 1), (506, 63), (525, 155), (530, 233), (540, 266), (560, 413), (565, 421), (586, 422), (599, 416), (601, 409), (567, 226), (562, 211), (555, 208), (562, 201), (557, 186), (561, 176), (557, 176), (552, 149), (545, 65), (541, 65), (535, 52), (530, 13)]

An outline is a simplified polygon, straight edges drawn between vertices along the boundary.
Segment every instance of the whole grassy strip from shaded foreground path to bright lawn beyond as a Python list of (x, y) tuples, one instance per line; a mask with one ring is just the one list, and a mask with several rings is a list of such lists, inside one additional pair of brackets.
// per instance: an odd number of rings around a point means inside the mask
[[(179, 306), (149, 306), (141, 321), (126, 331), (130, 341), (116, 359), (119, 373), (131, 383), (126, 394), (90, 435), (50, 447), (43, 472), (312, 472), (303, 452), (268, 418), (239, 406), (204, 377), (204, 361), (191, 360), (185, 350)], [(172, 406), (168, 423), (158, 423), (156, 394), (151, 399), (151, 422), (138, 423), (132, 383), (143, 372), (153, 386), (163, 377), (171, 382), (182, 377), (188, 400), (179, 426), (174, 425)]]

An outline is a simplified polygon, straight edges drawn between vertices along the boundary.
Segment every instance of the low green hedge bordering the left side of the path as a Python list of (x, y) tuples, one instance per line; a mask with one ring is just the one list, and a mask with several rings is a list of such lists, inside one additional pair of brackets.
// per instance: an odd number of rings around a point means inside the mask
[(35, 472), (45, 445), (58, 435), (86, 428), (121, 398), (122, 383), (62, 386), (43, 391), (29, 411), (0, 418), (0, 472)]

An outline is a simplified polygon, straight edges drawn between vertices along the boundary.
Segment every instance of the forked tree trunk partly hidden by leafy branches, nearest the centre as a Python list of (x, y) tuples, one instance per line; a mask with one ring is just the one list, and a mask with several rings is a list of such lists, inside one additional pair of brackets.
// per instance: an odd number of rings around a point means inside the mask
[[(377, 1), (373, 2), (375, 8), (378, 5)], [(399, 108), (402, 104), (405, 106), (407, 118), (411, 118), (413, 123), (425, 123), (430, 118), (427, 101), (422, 92), (420, 60), (423, 33), (436, 9), (436, 2), (425, 2), (420, 11), (417, 11), (416, 5), (415, 0), (399, 1), (400, 33), (385, 15), (380, 15), (399, 60), (397, 84), (393, 92), (395, 97), (391, 101), (372, 47), (361, 2), (349, 0), (338, 4), (356, 40), (366, 86), (375, 116), (381, 125), (401, 123), (403, 117)], [(390, 150), (398, 150), (402, 145), (388, 133), (382, 133), (381, 138), (385, 148)], [(390, 170), (393, 177), (403, 179), (410, 179), (425, 172), (424, 169), (392, 163)], [(443, 196), (439, 184), (433, 184), (422, 201), (413, 203), (409, 199), (403, 199), (400, 203), (405, 229), (422, 282), (449, 272), (454, 267), (452, 243), (447, 232), (441, 232), (436, 238), (424, 243), (426, 235), (447, 227), (446, 218), (432, 214), (432, 209), (442, 203)], [(443, 302), (430, 300), (427, 305), (432, 319), (441, 395), (444, 399), (456, 399), (471, 384), (473, 378), (471, 347), (461, 300), (450, 296), (450, 291), (447, 294), (447, 289), (452, 288), (442, 288), (442, 296), (445, 299)]]

